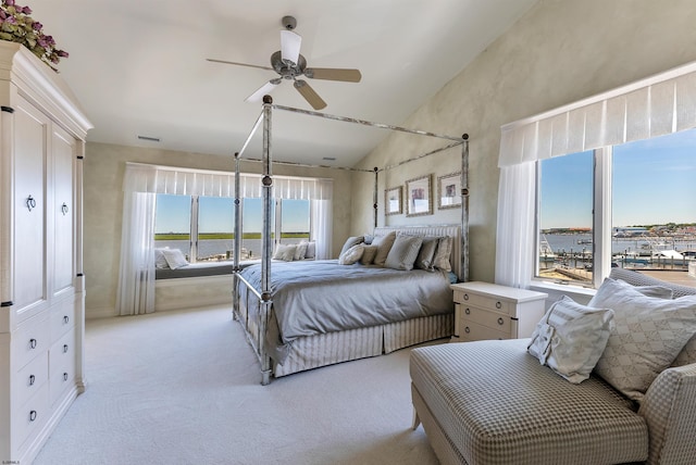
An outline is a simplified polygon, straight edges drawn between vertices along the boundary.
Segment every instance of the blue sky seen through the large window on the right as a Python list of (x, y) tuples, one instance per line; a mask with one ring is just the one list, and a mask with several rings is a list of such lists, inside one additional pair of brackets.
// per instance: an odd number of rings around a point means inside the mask
[[(614, 146), (612, 226), (696, 223), (696, 129)], [(592, 227), (592, 151), (542, 164), (540, 227)]]

